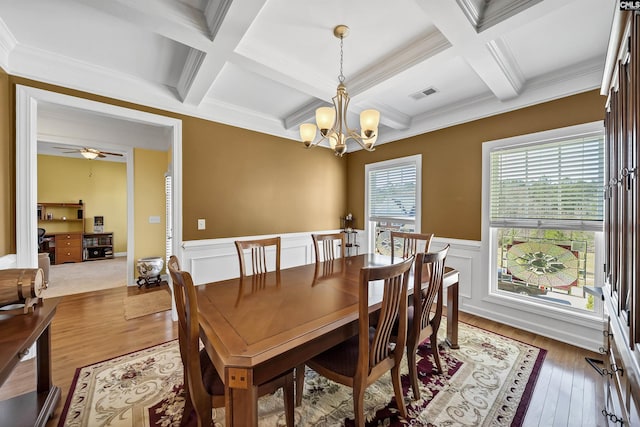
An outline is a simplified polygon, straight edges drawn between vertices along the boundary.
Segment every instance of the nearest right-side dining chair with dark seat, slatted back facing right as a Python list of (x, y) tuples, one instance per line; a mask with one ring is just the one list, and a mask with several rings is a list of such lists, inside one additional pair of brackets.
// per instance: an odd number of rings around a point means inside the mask
[[(404, 353), (407, 330), (407, 282), (413, 257), (400, 263), (360, 270), (358, 302), (358, 334), (310, 359), (311, 369), (330, 380), (353, 388), (355, 425), (364, 426), (364, 392), (387, 371), (396, 404), (402, 417), (407, 409), (400, 383), (400, 362)], [(375, 326), (369, 323), (369, 287), (372, 282), (382, 284), (380, 316)], [(398, 322), (399, 333), (395, 345), (391, 331)]]

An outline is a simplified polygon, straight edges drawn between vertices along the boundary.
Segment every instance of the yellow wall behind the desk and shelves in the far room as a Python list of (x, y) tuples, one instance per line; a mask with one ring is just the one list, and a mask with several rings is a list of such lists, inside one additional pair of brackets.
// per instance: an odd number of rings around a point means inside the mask
[[(93, 217), (104, 217), (104, 231), (113, 233), (114, 252), (127, 252), (127, 165), (101, 160), (38, 156), (38, 202), (84, 203), (85, 227), (93, 232)], [(64, 232), (50, 223), (48, 233)], [(59, 227), (59, 229), (56, 229)]]

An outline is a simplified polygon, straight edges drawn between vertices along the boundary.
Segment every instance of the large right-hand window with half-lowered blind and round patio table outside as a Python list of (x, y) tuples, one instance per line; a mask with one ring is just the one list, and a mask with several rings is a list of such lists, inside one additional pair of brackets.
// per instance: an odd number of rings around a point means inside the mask
[(602, 124), (495, 141), (484, 150), (492, 293), (593, 312), (597, 303), (585, 287), (600, 283)]

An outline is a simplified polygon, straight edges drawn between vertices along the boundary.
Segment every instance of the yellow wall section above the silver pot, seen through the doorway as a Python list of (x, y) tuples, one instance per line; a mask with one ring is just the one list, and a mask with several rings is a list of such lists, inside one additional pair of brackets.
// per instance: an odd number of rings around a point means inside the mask
[[(135, 149), (133, 158), (134, 259), (164, 258), (167, 224), (164, 174), (168, 153)], [(160, 222), (151, 223), (151, 216), (159, 217)]]

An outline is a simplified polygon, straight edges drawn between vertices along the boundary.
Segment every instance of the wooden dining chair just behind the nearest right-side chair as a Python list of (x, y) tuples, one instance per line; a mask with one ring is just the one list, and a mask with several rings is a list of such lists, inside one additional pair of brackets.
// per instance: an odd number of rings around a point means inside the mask
[[(438, 252), (420, 252), (416, 255), (413, 273), (413, 298), (411, 298), (411, 303), (407, 310), (408, 330), (406, 341), (409, 379), (415, 400), (420, 399), (416, 351), (420, 343), (427, 338), (429, 338), (436, 372), (438, 374), (442, 373), (442, 364), (438, 355), (438, 329), (442, 320), (444, 263), (448, 252), (449, 245)], [(423, 282), (427, 280), (429, 285), (426, 289), (423, 289)], [(398, 335), (401, 335), (401, 328), (394, 328), (394, 332), (395, 330), (399, 331)]]

